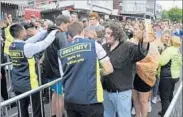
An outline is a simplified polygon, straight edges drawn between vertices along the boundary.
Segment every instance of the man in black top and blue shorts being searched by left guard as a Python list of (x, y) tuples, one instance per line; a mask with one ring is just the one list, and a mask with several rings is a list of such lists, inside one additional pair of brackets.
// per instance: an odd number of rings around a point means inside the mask
[[(50, 82), (60, 78), (58, 55), (57, 52), (60, 48), (67, 44), (66, 31), (69, 25), (69, 17), (61, 15), (56, 18), (56, 27), (51, 27), (48, 30), (58, 29), (55, 40), (44, 51), (44, 77)], [(52, 95), (52, 117), (62, 117), (64, 111), (63, 92), (61, 81), (51, 86), (53, 90)]]

